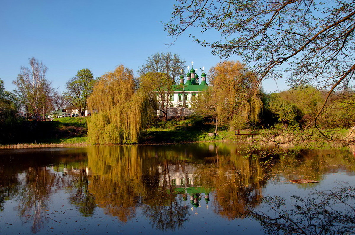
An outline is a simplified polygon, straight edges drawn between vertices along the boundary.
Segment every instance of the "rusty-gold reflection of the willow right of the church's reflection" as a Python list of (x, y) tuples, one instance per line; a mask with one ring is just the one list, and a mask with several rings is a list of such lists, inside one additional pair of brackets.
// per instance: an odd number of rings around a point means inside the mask
[[(236, 147), (230, 148), (230, 156), (219, 156), (215, 148), (217, 168), (201, 171), (202, 181), (211, 181), (215, 188), (214, 212), (228, 219), (244, 218), (248, 207), (256, 206), (262, 197), (266, 183), (264, 168), (258, 159), (244, 158), (236, 154)], [(206, 172), (203, 172), (206, 171)]]

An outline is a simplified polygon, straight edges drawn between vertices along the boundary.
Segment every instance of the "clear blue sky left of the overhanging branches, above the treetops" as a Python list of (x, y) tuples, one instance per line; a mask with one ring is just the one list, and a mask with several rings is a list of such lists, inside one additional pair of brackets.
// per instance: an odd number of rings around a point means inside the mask
[[(194, 68), (205, 71), (220, 59), (211, 50), (189, 38), (190, 29), (174, 45), (164, 31), (170, 19), (173, 0), (45, 1), (3, 0), (0, 8), (0, 79), (5, 88), (20, 66), (37, 58), (48, 67), (47, 79), (53, 87), (65, 90), (65, 82), (83, 68), (101, 76), (124, 64), (137, 75), (138, 67), (156, 52), (177, 53)], [(216, 38), (213, 32), (203, 35)], [(229, 59), (240, 60), (237, 56)], [(187, 69), (186, 69), (187, 71)], [(200, 74), (199, 74), (200, 75)], [(208, 76), (208, 73), (207, 73)], [(208, 78), (207, 78), (208, 79)], [(263, 82), (267, 92), (285, 90), (282, 81)]]

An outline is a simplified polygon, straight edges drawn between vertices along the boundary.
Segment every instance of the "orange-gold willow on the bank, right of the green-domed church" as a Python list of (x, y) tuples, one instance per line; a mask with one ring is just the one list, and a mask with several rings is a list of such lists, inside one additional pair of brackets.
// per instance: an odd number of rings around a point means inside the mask
[(239, 61), (225, 61), (209, 71), (212, 87), (193, 102), (197, 113), (218, 126), (243, 128), (259, 120), (262, 101), (255, 73)]

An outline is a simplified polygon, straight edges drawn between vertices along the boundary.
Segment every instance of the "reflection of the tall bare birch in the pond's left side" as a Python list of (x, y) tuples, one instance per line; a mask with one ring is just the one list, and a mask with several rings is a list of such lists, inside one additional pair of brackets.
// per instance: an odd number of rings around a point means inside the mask
[(18, 204), (20, 215), (33, 219), (32, 232), (36, 233), (46, 220), (45, 209), (51, 194), (55, 175), (46, 167), (32, 167), (26, 172), (26, 181), (21, 190), (21, 200)]

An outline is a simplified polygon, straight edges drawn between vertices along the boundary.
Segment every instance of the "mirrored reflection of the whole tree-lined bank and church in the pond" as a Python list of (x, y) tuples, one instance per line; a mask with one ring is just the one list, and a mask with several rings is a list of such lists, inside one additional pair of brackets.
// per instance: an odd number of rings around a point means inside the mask
[(258, 217), (256, 211), (268, 203), (263, 198), (269, 182), (322, 181), (339, 169), (348, 175), (355, 171), (354, 157), (344, 151), (301, 151), (264, 166), (239, 150), (232, 143), (203, 143), (0, 154), (0, 209), (18, 197), (18, 214), (36, 233), (49, 220), (51, 199), (64, 190), (80, 216), (102, 210), (127, 223), (139, 213), (161, 231), (184, 228), (191, 216), (207, 211), (230, 220), (253, 215), (267, 224), (274, 218)]

